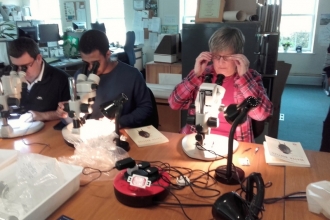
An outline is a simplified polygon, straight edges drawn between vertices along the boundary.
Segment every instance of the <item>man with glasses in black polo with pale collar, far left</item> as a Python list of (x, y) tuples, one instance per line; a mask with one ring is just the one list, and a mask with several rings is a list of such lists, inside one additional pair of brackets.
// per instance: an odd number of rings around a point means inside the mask
[(26, 69), (27, 89), (22, 90), (20, 106), (29, 113), (21, 118), (26, 122), (59, 119), (58, 103), (70, 99), (69, 75), (46, 63), (38, 45), (30, 38), (8, 42), (8, 55), (18, 70)]

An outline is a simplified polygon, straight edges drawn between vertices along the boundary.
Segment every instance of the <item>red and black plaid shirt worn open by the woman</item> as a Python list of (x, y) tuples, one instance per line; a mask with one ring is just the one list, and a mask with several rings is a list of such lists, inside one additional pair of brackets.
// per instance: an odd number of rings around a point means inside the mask
[[(199, 86), (204, 82), (205, 75), (209, 73), (213, 74), (214, 83), (217, 74), (214, 71), (213, 65), (207, 66), (203, 74), (199, 77), (197, 77), (194, 70), (192, 70), (188, 76), (174, 88), (172, 94), (168, 98), (168, 103), (171, 108), (176, 110), (188, 109), (190, 104), (195, 102)], [(235, 139), (237, 141), (254, 142), (251, 118), (258, 121), (265, 120), (271, 114), (273, 104), (266, 94), (261, 75), (255, 70), (250, 69), (241, 77), (236, 73), (234, 75), (234, 87), (234, 100), (236, 104), (243, 102), (244, 99), (249, 96), (256, 97), (260, 101), (259, 106), (249, 111), (248, 119), (237, 126), (235, 132)], [(191, 125), (185, 125), (181, 130), (183, 134), (194, 132), (195, 128)]]

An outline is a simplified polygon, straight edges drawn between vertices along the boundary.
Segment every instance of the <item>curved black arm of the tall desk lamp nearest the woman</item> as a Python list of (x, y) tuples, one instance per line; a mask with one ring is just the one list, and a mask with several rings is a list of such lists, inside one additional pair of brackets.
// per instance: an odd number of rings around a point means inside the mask
[(233, 124), (231, 126), (230, 132), (229, 132), (229, 138), (228, 138), (228, 156), (227, 156), (227, 170), (226, 170), (226, 177), (229, 179), (232, 175), (232, 163), (233, 163), (233, 145), (234, 145), (234, 135), (236, 128), (239, 124), (242, 123), (242, 120), (244, 117), (246, 117), (247, 111), (244, 109), (237, 118), (233, 121)]

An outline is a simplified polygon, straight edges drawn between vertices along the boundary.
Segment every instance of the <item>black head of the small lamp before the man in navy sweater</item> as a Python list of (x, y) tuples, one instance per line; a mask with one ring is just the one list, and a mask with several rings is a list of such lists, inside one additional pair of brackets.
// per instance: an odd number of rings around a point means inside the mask
[(128, 100), (127, 96), (122, 93), (113, 101), (104, 102), (100, 105), (102, 114), (108, 119), (114, 119), (116, 112), (119, 108), (122, 108), (122, 105)]

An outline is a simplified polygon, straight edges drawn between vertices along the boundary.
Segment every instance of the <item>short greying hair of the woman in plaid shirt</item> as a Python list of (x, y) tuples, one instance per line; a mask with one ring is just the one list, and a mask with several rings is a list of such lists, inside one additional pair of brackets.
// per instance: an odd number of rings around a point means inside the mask
[(235, 54), (242, 54), (244, 43), (245, 37), (240, 29), (225, 26), (212, 34), (209, 39), (209, 49), (210, 52), (232, 49)]

